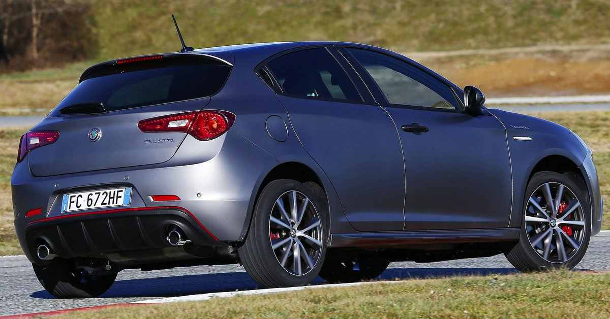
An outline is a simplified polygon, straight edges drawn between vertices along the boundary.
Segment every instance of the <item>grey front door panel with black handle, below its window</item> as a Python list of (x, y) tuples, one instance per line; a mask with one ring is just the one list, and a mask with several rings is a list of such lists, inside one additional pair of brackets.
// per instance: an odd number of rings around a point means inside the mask
[(387, 107), (404, 151), (405, 227), (501, 228), (509, 222), (512, 174), (506, 130), (493, 116)]

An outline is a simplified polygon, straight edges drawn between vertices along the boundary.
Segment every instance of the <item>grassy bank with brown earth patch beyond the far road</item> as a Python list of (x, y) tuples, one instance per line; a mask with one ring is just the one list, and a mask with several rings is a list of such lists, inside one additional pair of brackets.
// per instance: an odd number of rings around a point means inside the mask
[[(398, 52), (610, 43), (608, 28), (600, 27), (610, 18), (610, 2), (600, 0), (90, 3), (90, 24), (98, 39), (91, 60), (0, 74), (0, 116), (45, 115), (77, 84), (81, 72), (96, 62), (177, 51), (170, 13), (176, 13), (187, 44), (195, 48), (295, 40), (356, 41)], [(610, 52), (579, 51), (561, 59), (508, 54), (423, 62), (461, 86), (476, 85), (493, 96), (608, 93), (609, 60)]]

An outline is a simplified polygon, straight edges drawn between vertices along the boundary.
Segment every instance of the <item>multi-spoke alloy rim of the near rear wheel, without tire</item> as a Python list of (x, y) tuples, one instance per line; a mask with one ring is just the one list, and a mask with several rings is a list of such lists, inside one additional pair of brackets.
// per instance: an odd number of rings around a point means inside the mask
[(276, 259), (291, 274), (309, 273), (320, 259), (320, 217), (301, 192), (290, 190), (276, 200), (269, 218), (269, 235)]

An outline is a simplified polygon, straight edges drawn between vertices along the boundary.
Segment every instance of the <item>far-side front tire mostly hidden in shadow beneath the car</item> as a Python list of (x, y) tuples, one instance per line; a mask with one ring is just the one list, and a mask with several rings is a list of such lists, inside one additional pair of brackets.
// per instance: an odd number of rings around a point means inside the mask
[(328, 260), (322, 266), (318, 276), (328, 282), (357, 282), (378, 277), (389, 265), (382, 260), (364, 260), (361, 262), (340, 262)]

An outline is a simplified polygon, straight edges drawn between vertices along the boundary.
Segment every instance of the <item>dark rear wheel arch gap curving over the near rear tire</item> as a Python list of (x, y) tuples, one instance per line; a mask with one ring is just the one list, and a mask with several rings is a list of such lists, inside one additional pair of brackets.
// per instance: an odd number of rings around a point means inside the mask
[(260, 193), (265, 188), (265, 186), (277, 179), (292, 179), (294, 181), (304, 184), (307, 188), (309, 188), (309, 190), (314, 193), (314, 195), (318, 196), (321, 203), (325, 205), (325, 208), (328, 211), (330, 224), (331, 218), (330, 207), (328, 203), (328, 192), (326, 190), (325, 185), (318, 176), (318, 173), (316, 173), (312, 168), (301, 162), (284, 162), (272, 168), (262, 179), (258, 187), (255, 188), (253, 192), (253, 197), (251, 198), (250, 204), (248, 206), (248, 215), (246, 216), (246, 220), (243, 225), (242, 235), (240, 235), (239, 238), (240, 242), (243, 242), (243, 240), (246, 238), (246, 235), (248, 235), (248, 230), (250, 228), (250, 224), (252, 223), (254, 207), (256, 206), (256, 202), (259, 199)]

